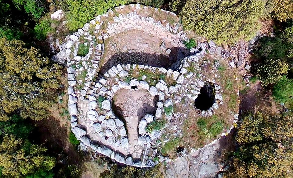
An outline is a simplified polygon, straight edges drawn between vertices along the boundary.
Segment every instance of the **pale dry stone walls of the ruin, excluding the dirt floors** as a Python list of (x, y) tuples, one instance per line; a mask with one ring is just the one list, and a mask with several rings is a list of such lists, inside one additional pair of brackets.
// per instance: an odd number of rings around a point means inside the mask
[[(161, 144), (157, 140), (164, 129), (153, 130), (150, 133), (147, 131), (147, 126), (152, 122), (162, 117), (174, 117), (172, 113), (165, 113), (166, 107), (179, 103), (183, 96), (195, 101), (206, 82), (211, 82), (214, 86), (215, 101), (208, 110), (202, 112), (202, 116), (211, 116), (223, 104), (221, 87), (215, 80), (198, 75), (200, 73), (194, 73), (194, 71), (202, 70), (198, 61), (206, 54), (207, 49), (210, 47), (214, 51), (218, 49), (213, 42), (205, 42), (187, 50), (183, 41), (188, 41), (188, 38), (179, 24), (173, 26), (166, 20), (160, 21), (137, 14), (139, 9), (154, 11), (159, 9), (131, 4), (117, 7), (116, 11), (129, 8), (135, 10), (118, 15), (109, 10), (108, 13), (97, 16), (77, 32), (67, 36), (67, 41), (59, 46), (60, 53), (56, 55), (56, 58), (61, 62), (67, 62), (71, 130), (81, 141), (81, 147), (90, 147), (97, 153), (126, 165), (152, 167), (158, 164), (158, 161), (169, 160), (158, 155), (156, 149)], [(160, 11), (176, 17), (174, 13)], [(99, 64), (107, 48), (104, 40), (130, 30), (139, 30), (142, 33), (158, 36), (163, 41), (160, 48), (164, 49), (166, 54), (170, 54), (171, 49), (166, 48), (165, 42), (174, 43), (184, 49), (179, 49), (180, 55), (177, 55), (177, 62), (171, 69), (125, 63), (117, 64), (100, 73), (102, 66)], [(89, 47), (85, 56), (78, 56), (81, 45)], [(219, 63), (213, 65), (215, 72)], [(161, 77), (157, 80), (148, 80), (147, 75), (137, 77), (139, 73)], [(187, 89), (188, 87), (191, 89)], [(137, 130), (136, 138), (130, 138), (131, 136), (128, 135), (128, 128), (132, 127), (131, 123), (114, 114), (113, 102), (116, 93), (122, 89), (145, 90), (150, 96), (157, 97), (155, 113), (146, 114), (138, 119), (137, 128), (134, 128)], [(235, 118), (237, 118), (236, 115)], [(230, 130), (227, 130), (222, 135), (229, 132)], [(159, 157), (159, 160), (154, 160), (155, 157)]]

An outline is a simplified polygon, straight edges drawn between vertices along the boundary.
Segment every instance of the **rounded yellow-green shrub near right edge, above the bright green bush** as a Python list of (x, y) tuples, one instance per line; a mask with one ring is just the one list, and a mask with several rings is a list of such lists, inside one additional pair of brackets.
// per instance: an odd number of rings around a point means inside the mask
[(262, 85), (275, 84), (287, 74), (288, 64), (281, 60), (263, 60), (256, 66), (257, 77)]

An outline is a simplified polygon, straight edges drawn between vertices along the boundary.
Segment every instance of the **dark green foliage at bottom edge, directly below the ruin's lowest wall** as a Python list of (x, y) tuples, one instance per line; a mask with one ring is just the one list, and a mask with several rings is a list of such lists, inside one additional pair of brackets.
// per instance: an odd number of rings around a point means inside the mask
[(163, 178), (163, 173), (160, 171), (161, 165), (155, 165), (149, 169), (139, 169), (133, 166), (118, 167), (113, 165), (100, 174), (99, 178)]

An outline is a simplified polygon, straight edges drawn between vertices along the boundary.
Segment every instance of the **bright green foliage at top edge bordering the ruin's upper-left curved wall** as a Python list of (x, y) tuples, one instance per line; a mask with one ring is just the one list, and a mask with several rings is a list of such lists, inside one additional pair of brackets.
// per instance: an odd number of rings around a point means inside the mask
[(68, 28), (75, 31), (97, 15), (127, 2), (127, 0), (65, 0), (63, 6), (68, 10), (66, 13)]

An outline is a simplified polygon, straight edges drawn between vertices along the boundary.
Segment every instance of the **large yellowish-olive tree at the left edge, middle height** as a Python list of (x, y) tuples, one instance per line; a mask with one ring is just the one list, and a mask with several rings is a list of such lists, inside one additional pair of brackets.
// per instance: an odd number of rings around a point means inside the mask
[(38, 49), (26, 49), (19, 40), (0, 39), (0, 120), (13, 113), (34, 120), (46, 117), (61, 74), (61, 67), (50, 64)]

